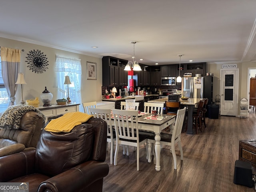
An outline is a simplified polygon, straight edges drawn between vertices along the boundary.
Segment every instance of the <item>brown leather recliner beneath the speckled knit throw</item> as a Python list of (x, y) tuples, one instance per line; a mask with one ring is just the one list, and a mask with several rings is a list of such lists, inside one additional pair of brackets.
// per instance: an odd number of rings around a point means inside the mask
[(26, 112), (19, 129), (0, 129), (0, 157), (35, 148), (44, 128), (44, 118), (34, 111)]

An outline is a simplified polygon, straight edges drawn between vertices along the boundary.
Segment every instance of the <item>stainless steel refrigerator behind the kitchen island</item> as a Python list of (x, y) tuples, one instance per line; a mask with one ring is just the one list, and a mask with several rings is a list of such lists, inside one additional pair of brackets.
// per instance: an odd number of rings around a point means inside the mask
[(204, 77), (183, 77), (181, 87), (185, 97), (203, 98)]

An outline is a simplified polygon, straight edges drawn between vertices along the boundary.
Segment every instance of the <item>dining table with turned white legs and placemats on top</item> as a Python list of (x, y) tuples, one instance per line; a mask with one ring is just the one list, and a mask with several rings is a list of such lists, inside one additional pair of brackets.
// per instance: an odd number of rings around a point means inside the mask
[[(139, 130), (146, 130), (154, 132), (155, 134), (155, 155), (156, 155), (156, 171), (160, 171), (160, 152), (161, 152), (161, 146), (160, 146), (160, 140), (161, 136), (160, 133), (162, 130), (167, 128), (168, 126), (175, 123), (175, 117), (176, 115), (166, 115), (166, 114), (160, 114), (156, 117), (152, 117), (151, 113), (145, 113), (141, 112), (138, 116), (138, 129)], [(112, 120), (114, 120), (112, 118)], [(130, 121), (131, 119), (129, 119)], [(134, 118), (132, 118), (133, 121), (135, 121)], [(152, 144), (148, 143), (148, 154), (151, 154), (152, 150)], [(151, 156), (148, 155), (148, 162), (151, 163)]]

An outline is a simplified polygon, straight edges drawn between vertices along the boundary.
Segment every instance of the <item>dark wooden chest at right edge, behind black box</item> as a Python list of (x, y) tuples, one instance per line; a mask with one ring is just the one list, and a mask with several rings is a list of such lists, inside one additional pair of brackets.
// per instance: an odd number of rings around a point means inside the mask
[(239, 141), (239, 160), (250, 162), (256, 168), (256, 139)]

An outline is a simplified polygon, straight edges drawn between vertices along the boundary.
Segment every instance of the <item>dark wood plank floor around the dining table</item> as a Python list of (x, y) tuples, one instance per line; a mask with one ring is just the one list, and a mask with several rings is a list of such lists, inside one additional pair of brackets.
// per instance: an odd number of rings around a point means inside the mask
[(136, 152), (130, 156), (118, 153), (118, 165), (106, 162), (109, 174), (104, 178), (104, 192), (252, 192), (253, 188), (234, 184), (234, 163), (238, 160), (239, 140), (256, 138), (256, 114), (249, 118), (220, 116), (206, 118), (207, 128), (198, 135), (182, 133), (184, 160), (176, 146), (177, 170), (174, 170), (169, 146), (162, 146), (160, 172), (146, 160), (140, 147), (140, 171), (136, 171)]

